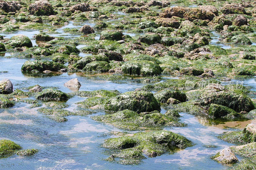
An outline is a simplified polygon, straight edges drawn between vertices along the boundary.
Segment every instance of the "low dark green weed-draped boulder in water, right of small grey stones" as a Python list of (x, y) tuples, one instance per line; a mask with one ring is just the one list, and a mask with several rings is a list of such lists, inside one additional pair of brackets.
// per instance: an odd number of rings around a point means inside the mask
[(68, 100), (68, 96), (66, 93), (61, 92), (60, 90), (48, 88), (36, 94), (36, 99), (43, 100), (43, 101), (50, 101), (50, 100), (63, 101), (63, 100)]

